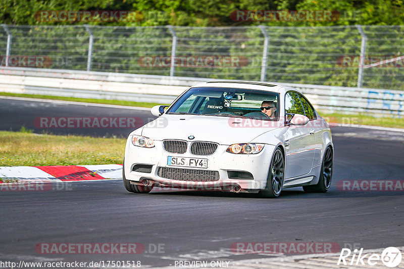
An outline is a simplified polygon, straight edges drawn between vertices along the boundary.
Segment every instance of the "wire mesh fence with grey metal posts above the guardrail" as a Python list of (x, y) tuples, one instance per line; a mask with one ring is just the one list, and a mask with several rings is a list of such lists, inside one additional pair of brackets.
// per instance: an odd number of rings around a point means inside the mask
[(1, 65), (404, 89), (404, 26), (0, 28)]

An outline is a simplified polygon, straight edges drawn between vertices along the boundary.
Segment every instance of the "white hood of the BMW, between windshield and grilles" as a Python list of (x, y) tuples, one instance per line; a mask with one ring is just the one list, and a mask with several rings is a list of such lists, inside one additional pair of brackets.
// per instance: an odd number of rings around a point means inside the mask
[[(165, 139), (210, 141), (221, 145), (248, 143), (261, 134), (279, 128), (279, 122), (222, 116), (165, 114), (143, 126), (141, 135)], [(254, 141), (265, 143), (265, 141)]]

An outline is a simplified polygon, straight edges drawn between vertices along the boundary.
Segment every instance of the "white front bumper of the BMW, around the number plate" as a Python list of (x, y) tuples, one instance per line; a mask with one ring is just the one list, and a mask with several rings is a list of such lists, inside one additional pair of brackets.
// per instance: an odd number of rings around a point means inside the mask
[[(219, 145), (212, 155), (193, 155), (189, 150), (184, 154), (167, 152), (162, 141), (155, 141), (154, 148), (136, 147), (131, 143), (131, 137), (127, 140), (125, 149), (124, 173), (127, 180), (134, 184), (142, 184), (144, 179), (149, 184), (161, 187), (234, 191), (233, 187), (239, 185), (242, 191), (257, 192), (264, 189), (267, 183), (267, 175), (275, 146), (265, 145), (258, 154), (231, 154), (226, 152), (229, 145)], [(208, 159), (208, 168), (191, 168), (167, 165), (169, 156)], [(137, 164), (151, 165), (151, 172), (132, 171)], [(159, 168), (180, 168), (200, 171), (217, 171), (219, 179), (215, 181), (197, 181), (195, 176), (192, 180), (174, 180), (159, 176)], [(229, 178), (228, 171), (243, 171), (252, 174), (254, 179)], [(197, 173), (196, 173), (197, 174)]]

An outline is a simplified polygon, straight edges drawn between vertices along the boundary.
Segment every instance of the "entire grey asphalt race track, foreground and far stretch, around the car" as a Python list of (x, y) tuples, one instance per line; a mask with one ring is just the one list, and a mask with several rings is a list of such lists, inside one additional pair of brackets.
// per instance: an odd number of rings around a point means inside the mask
[[(131, 116), (147, 111), (0, 99), (1, 129), (33, 128), (40, 116)], [(32, 124), (32, 125), (31, 125)], [(41, 131), (35, 129), (35, 131)], [(125, 136), (102, 129), (92, 136)], [(86, 130), (54, 129), (53, 133)], [(69, 182), (62, 190), (0, 191), (0, 259), (10, 261), (175, 260), (271, 257), (240, 254), (234, 242), (336, 242), (365, 249), (404, 245), (404, 191), (347, 191), (341, 180), (403, 180), (404, 133), (333, 127), (334, 174), (327, 193), (283, 190), (277, 199), (208, 191), (129, 193), (121, 180)], [(0, 146), (1, 147), (1, 146)], [(141, 243), (141, 254), (43, 254), (38, 243)], [(164, 249), (156, 253), (154, 246)], [(150, 248), (150, 249), (148, 249)], [(151, 250), (151, 251), (150, 251)], [(146, 253), (147, 252), (147, 253)]]

